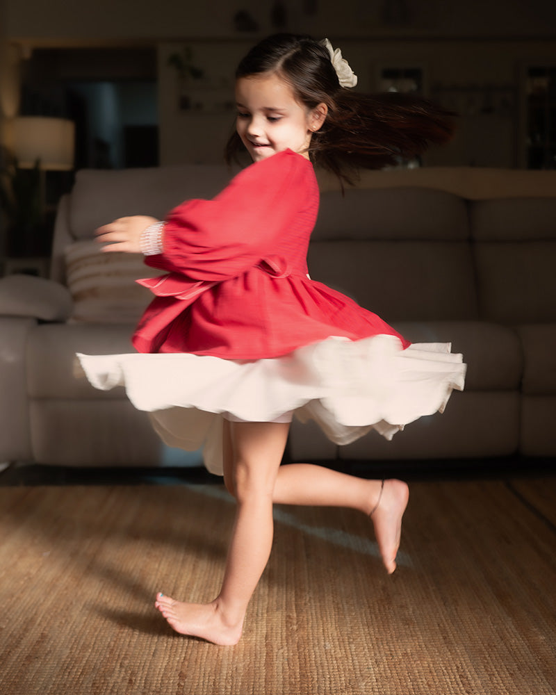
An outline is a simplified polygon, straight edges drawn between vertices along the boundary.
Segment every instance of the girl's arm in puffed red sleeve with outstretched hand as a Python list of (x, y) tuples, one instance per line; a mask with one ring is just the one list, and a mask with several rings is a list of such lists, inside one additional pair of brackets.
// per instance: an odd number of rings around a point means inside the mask
[[(193, 280), (220, 281), (272, 254), (277, 240), (306, 202), (309, 162), (280, 152), (247, 167), (213, 200), (174, 208), (161, 229), (161, 254), (145, 263)], [(144, 232), (156, 218), (133, 215), (97, 229), (103, 252), (145, 252)]]

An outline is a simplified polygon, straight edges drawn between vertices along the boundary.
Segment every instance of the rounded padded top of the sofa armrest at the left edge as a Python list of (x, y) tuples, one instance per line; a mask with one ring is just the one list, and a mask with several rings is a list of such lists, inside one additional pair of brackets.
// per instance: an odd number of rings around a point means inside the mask
[(52, 280), (33, 275), (0, 279), (0, 315), (27, 316), (43, 321), (65, 321), (72, 316), (70, 291)]

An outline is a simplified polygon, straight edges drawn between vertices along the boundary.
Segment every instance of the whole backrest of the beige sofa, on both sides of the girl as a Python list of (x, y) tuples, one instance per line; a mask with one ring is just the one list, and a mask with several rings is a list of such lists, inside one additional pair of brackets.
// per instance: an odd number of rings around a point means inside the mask
[[(470, 188), (474, 172), (465, 173)], [(505, 181), (509, 174), (502, 173)], [(509, 173), (519, 174), (520, 185), (539, 174)], [(99, 225), (141, 213), (161, 218), (183, 199), (213, 197), (233, 174), (224, 165), (79, 172), (58, 208), (51, 277), (65, 281), (66, 248), (92, 238)], [(434, 181), (420, 181), (432, 174)], [(556, 319), (556, 197), (502, 198), (497, 189), (490, 199), (472, 190), (469, 199), (440, 190), (438, 172), (426, 169), (369, 175), (377, 188), (322, 193), (309, 247), (313, 279), (391, 322)], [(427, 186), (398, 185), (414, 177)], [(386, 181), (397, 183), (384, 187)], [(137, 262), (139, 276), (144, 267)]]

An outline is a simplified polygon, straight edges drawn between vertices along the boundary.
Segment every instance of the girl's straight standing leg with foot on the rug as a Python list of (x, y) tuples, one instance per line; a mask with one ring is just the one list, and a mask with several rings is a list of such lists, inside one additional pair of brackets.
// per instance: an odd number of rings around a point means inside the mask
[(170, 626), (215, 644), (236, 644), (247, 604), (270, 555), (272, 493), (288, 437), (288, 423), (226, 423), (224, 473), (237, 500), (222, 589), (208, 604), (158, 594), (156, 607)]

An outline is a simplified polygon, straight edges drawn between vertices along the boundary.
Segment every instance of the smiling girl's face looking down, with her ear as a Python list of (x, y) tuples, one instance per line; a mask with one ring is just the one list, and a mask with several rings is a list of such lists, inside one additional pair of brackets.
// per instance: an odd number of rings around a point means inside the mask
[(236, 130), (253, 161), (291, 149), (309, 159), (311, 136), (325, 121), (327, 107), (313, 110), (295, 101), (293, 90), (275, 73), (236, 82)]

